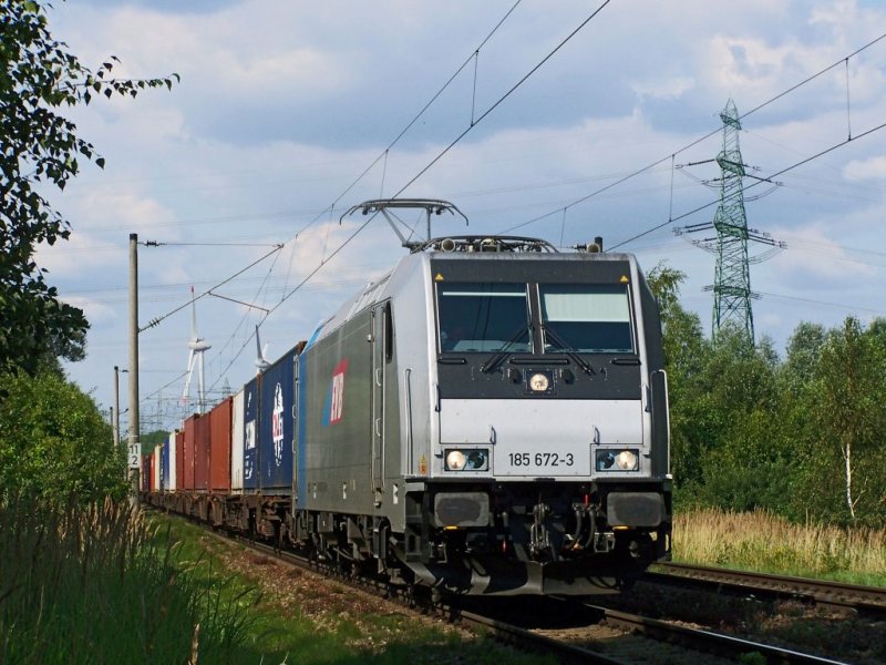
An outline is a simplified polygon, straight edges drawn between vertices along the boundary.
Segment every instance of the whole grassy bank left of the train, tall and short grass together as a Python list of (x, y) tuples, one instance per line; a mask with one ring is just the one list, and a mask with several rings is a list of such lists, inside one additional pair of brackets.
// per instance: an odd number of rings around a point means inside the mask
[(552, 663), (365, 606), (181, 520), (27, 505), (0, 504), (0, 663)]

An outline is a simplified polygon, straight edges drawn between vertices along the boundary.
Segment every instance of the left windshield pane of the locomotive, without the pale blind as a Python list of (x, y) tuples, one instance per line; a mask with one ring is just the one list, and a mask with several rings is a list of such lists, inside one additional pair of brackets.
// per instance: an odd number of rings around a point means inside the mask
[(532, 350), (525, 284), (437, 284), (440, 349)]

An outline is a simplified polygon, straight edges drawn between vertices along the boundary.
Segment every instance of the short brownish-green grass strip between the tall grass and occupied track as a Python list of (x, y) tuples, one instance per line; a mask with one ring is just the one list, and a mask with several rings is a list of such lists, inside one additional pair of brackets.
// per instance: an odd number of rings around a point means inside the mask
[(289, 569), (245, 548), (223, 542), (176, 518), (154, 515), (189, 551), (224, 562), (237, 584), (261, 590), (249, 608), (250, 631), (237, 663), (555, 663), (485, 637), (416, 618), (396, 606), (368, 600), (344, 584)]

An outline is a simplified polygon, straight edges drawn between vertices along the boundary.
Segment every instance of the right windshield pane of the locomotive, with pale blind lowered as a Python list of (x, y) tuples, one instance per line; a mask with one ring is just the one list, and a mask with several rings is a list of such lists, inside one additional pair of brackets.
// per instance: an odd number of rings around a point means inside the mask
[(539, 284), (546, 354), (630, 354), (633, 336), (624, 285)]

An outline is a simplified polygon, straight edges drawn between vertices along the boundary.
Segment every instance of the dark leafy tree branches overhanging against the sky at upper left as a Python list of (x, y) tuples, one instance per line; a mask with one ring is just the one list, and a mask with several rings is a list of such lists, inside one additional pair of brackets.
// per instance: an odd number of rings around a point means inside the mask
[(71, 233), (38, 187), (63, 190), (80, 172), (79, 160), (104, 167), (104, 158), (59, 111), (100, 95), (171, 89), (178, 80), (114, 79), (115, 62), (112, 57), (93, 73), (52, 38), (40, 2), (0, 0), (0, 372), (33, 375), (53, 347), (82, 355), (83, 313), (61, 301), (33, 260), (40, 243), (53, 245)]

